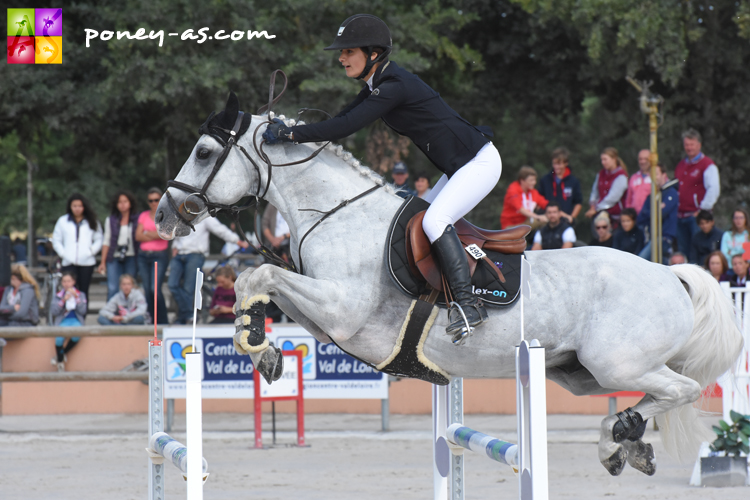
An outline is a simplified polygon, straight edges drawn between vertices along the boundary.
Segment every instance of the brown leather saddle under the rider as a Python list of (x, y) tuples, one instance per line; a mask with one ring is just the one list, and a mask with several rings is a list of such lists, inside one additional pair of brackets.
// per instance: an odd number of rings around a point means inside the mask
[[(422, 219), (425, 212), (426, 210), (423, 210), (414, 215), (406, 226), (406, 256), (412, 274), (418, 280), (427, 282), (433, 289), (442, 292), (443, 279), (440, 266), (431, 254), (430, 240), (422, 229)], [(474, 244), (485, 252), (491, 250), (506, 255), (523, 253), (526, 250), (526, 236), (531, 231), (531, 226), (525, 225), (500, 231), (489, 231), (471, 224), (466, 219), (460, 219), (454, 224), (454, 227), (464, 247)], [(466, 260), (469, 263), (469, 271), (473, 276), (478, 260), (469, 255), (468, 252), (466, 253)], [(500, 282), (505, 283), (505, 277), (495, 263), (486, 256), (482, 260), (487, 262), (490, 268), (497, 273)]]

